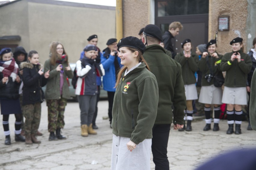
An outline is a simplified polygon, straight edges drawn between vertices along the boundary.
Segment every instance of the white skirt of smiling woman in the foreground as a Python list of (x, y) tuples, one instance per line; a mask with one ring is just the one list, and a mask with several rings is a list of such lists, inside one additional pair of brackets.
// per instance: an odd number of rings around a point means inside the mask
[(130, 138), (113, 135), (111, 170), (150, 170), (152, 139), (145, 139), (133, 151), (127, 149)]

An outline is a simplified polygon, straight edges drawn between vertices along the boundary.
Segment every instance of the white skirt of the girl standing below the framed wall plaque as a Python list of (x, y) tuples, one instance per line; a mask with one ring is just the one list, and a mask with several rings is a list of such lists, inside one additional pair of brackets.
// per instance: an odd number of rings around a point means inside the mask
[(247, 105), (246, 87), (224, 86), (222, 103)]

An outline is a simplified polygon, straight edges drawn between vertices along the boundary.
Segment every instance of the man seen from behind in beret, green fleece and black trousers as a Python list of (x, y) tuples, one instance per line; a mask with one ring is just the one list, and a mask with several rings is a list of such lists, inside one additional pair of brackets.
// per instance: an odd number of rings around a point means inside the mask
[(165, 49), (159, 45), (161, 41), (162, 32), (159, 27), (149, 24), (144, 28), (142, 42), (146, 45), (146, 50), (143, 57), (156, 76), (159, 88), (157, 118), (152, 128), (151, 146), (156, 170), (169, 169), (167, 145), (170, 127), (173, 123), (174, 130), (183, 128), (186, 108), (181, 65), (166, 54)]

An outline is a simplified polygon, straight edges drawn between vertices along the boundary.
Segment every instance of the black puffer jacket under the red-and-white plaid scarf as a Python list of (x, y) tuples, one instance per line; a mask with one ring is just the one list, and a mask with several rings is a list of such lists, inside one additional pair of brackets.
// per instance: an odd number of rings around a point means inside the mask
[[(20, 75), (19, 75), (20, 76)], [(19, 95), (19, 87), (21, 84), (17, 81), (12, 81), (11, 77), (8, 77), (8, 83), (3, 84), (2, 79), (4, 78), (3, 73), (0, 73), (0, 99), (17, 99)]]

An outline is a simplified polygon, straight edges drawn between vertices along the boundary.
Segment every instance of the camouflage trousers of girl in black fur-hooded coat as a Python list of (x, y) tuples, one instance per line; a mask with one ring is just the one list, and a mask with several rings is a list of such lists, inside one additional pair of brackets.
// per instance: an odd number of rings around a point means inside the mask
[(22, 111), (25, 117), (25, 134), (36, 133), (41, 119), (41, 103), (23, 105)]

